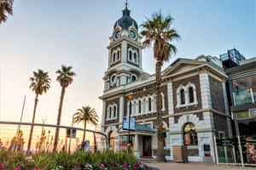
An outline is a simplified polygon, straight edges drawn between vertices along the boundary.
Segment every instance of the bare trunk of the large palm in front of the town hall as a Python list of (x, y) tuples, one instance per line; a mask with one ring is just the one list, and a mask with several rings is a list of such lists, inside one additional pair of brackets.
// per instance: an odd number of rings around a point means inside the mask
[(161, 111), (161, 96), (160, 96), (160, 85), (161, 85), (161, 67), (162, 61), (157, 60), (155, 65), (155, 88), (156, 88), (156, 111), (157, 111), (157, 161), (166, 161), (164, 156), (164, 135), (162, 128), (162, 111)]

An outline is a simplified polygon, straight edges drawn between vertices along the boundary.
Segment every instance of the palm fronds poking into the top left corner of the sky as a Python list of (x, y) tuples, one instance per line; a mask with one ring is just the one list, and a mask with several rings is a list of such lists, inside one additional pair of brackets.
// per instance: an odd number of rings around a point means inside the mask
[(13, 14), (13, 0), (0, 0), (0, 24), (5, 22), (8, 14)]

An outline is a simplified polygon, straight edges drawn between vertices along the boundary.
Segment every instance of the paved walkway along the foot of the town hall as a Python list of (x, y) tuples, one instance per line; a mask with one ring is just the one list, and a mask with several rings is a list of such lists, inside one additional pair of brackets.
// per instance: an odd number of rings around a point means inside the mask
[(199, 163), (199, 162), (189, 162), (189, 163), (174, 163), (174, 162), (162, 162), (158, 163), (151, 160), (141, 160), (152, 167), (153, 170), (256, 170), (256, 167), (234, 167), (234, 166), (217, 166), (213, 163)]

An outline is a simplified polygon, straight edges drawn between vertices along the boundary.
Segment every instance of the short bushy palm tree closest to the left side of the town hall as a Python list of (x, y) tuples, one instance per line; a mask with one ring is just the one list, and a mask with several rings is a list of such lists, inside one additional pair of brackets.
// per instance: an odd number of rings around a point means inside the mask
[[(74, 114), (74, 122), (84, 122), (84, 129), (86, 129), (87, 123), (92, 123), (95, 126), (97, 125), (97, 122), (99, 122), (99, 116), (97, 116), (97, 113), (95, 109), (92, 109), (89, 105), (82, 106), (82, 109), (78, 109), (78, 112)], [(83, 142), (85, 139), (85, 131), (83, 136)], [(95, 142), (96, 144), (96, 142)]]

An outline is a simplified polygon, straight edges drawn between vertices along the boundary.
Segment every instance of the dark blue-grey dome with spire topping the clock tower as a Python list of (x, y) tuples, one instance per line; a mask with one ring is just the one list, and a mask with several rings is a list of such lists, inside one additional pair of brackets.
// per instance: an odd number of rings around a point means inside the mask
[(129, 27), (132, 25), (137, 29), (137, 22), (136, 20), (133, 20), (131, 18), (130, 12), (131, 11), (126, 6), (125, 9), (123, 10), (123, 16), (114, 23), (113, 29), (115, 29), (117, 24), (119, 24), (119, 26), (121, 26), (121, 28), (125, 30), (128, 30)]

